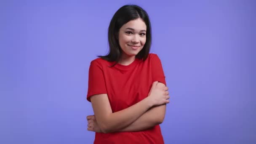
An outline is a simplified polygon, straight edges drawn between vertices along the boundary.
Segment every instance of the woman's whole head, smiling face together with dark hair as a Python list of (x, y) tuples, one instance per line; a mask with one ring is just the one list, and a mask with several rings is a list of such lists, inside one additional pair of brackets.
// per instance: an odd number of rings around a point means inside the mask
[(109, 53), (100, 56), (118, 62), (122, 53), (147, 59), (151, 45), (151, 24), (147, 12), (137, 5), (124, 5), (114, 14), (108, 29)]

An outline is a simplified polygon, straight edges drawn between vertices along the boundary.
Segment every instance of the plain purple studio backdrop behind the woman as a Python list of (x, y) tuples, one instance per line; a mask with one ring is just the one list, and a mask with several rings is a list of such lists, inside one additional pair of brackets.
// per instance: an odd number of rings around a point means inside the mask
[(256, 144), (255, 0), (0, 0), (0, 143), (93, 143), (88, 68), (125, 4), (152, 22), (165, 143)]

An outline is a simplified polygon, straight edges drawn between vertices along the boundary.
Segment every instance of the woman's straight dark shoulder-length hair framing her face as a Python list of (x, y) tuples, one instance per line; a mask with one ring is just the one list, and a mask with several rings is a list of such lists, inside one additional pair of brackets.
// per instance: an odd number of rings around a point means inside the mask
[[(136, 55), (136, 58), (146, 60), (151, 46), (151, 24), (147, 12), (138, 5), (124, 5), (119, 8), (112, 17), (108, 28), (109, 52), (106, 56), (98, 56), (107, 61), (115, 61), (117, 64), (121, 59), (122, 49), (118, 41), (120, 28), (131, 20), (141, 18), (146, 26), (146, 43), (142, 50)], [(115, 65), (114, 64), (114, 65)], [(114, 66), (113, 65), (113, 66)]]

